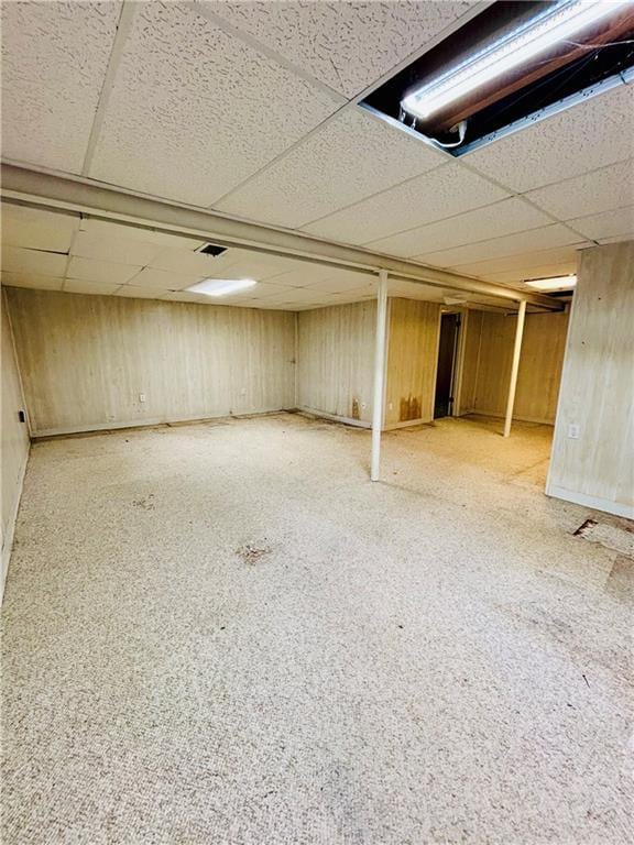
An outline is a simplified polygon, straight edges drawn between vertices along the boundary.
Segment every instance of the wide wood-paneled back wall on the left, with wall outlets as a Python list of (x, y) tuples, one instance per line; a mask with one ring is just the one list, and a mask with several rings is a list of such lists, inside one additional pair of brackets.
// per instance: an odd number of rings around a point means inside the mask
[(8, 294), (34, 435), (295, 405), (293, 314), (25, 288)]

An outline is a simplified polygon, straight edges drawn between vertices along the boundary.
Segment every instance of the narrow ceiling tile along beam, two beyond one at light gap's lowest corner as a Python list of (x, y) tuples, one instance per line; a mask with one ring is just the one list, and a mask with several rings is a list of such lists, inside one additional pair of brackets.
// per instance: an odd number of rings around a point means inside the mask
[(531, 229), (527, 232), (516, 232), (504, 238), (494, 238), (490, 241), (468, 243), (464, 246), (456, 246), (452, 250), (430, 252), (417, 255), (416, 260), (425, 264), (438, 267), (450, 267), (457, 264), (467, 264), (490, 259), (502, 259), (505, 255), (523, 254), (528, 250), (546, 250), (551, 246), (565, 246), (578, 243), (580, 237), (562, 223), (551, 223), (539, 229)]

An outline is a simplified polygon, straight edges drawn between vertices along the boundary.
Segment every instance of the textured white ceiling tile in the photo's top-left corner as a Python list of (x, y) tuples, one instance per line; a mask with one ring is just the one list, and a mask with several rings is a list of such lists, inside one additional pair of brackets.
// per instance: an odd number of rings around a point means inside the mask
[(80, 173), (119, 2), (2, 3), (2, 154)]

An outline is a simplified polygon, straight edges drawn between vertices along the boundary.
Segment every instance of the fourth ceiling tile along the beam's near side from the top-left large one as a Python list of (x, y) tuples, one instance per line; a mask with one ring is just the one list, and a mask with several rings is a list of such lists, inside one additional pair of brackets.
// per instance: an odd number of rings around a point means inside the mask
[(407, 232), (400, 232), (368, 244), (379, 252), (412, 257), (426, 252), (461, 246), (526, 229), (546, 226), (550, 219), (543, 211), (517, 197), (503, 199), (448, 220), (439, 220)]

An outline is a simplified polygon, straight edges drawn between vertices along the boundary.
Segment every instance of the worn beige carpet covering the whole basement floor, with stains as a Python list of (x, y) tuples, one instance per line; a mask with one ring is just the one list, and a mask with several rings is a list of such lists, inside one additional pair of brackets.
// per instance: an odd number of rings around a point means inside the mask
[(379, 484), (294, 415), (36, 443), (3, 844), (630, 843), (632, 562), (499, 430), (390, 434)]

